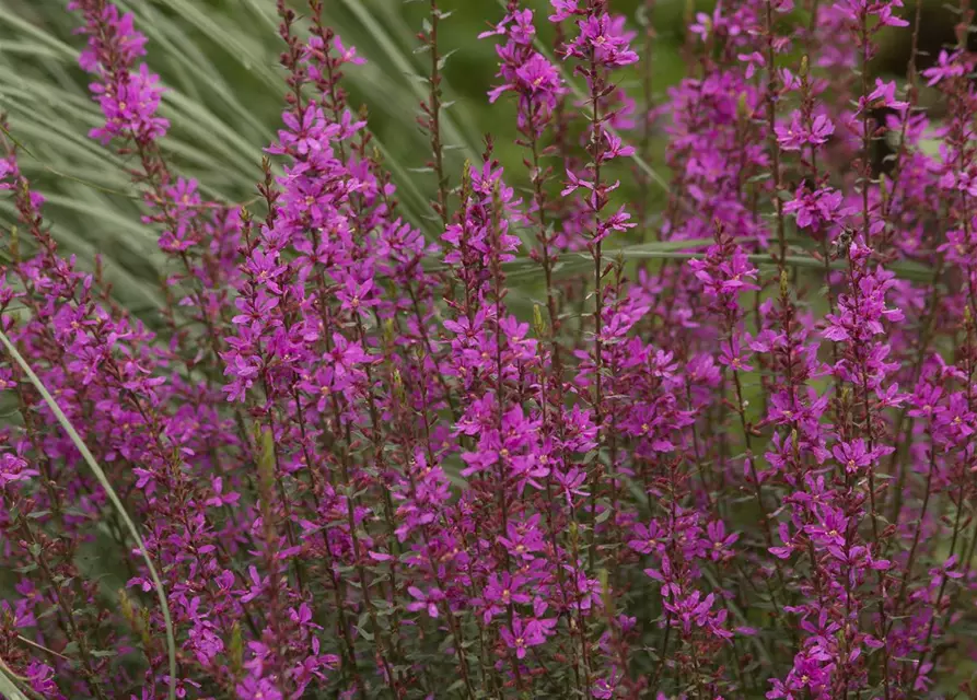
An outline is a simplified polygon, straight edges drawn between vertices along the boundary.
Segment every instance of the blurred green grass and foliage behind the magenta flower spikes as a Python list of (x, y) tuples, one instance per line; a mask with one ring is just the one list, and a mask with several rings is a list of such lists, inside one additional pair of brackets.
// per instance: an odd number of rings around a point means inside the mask
[[(168, 88), (162, 113), (172, 128), (163, 145), (177, 171), (196, 177), (209, 197), (247, 201), (261, 176), (260, 149), (275, 138), (283, 108), (274, 0), (115, 1), (135, 14), (137, 27), (148, 35), (146, 60)], [(940, 15), (938, 1), (932, 2), (935, 10), (928, 9), (934, 16)], [(547, 0), (523, 4), (548, 14)], [(90, 268), (95, 254), (101, 254), (116, 299), (137, 314), (151, 312), (161, 303), (159, 282), (164, 272), (156, 231), (140, 224), (139, 194), (129, 183), (126, 162), (88, 137), (101, 116), (90, 97), (89, 78), (78, 67), (83, 40), (72, 33), (77, 18), (65, 5), (66, 0), (0, 0), (0, 112), (9, 115), (12, 135), (24, 147), (23, 170), (47, 197), (46, 219), (62, 249), (77, 254)], [(449, 56), (443, 100), (451, 106), (442, 124), (453, 184), (462, 162), (478, 159), (487, 132), (495, 137), (496, 155), (511, 168), (510, 182), (525, 184), (521, 149), (513, 142), (514, 106), (505, 98), (490, 106), (486, 97), (497, 70), (496, 43), (476, 39), (501, 19), (504, 8), (499, 0), (442, 0), (440, 7), (451, 13), (441, 24), (439, 44), (442, 55)], [(709, 0), (654, 3), (650, 20), (655, 101), (684, 74), (685, 18), (710, 7)], [(643, 37), (649, 19), (644, 0), (617, 0), (613, 8)], [(430, 68), (430, 55), (417, 52), (415, 35), (428, 12), (426, 0), (326, 3), (327, 23), (368, 59), (347, 71), (350, 104), (369, 109), (374, 145), (398, 186), (404, 215), (437, 236), (428, 207), (434, 177), (423, 172), (428, 138), (415, 122)], [(935, 30), (934, 54), (952, 38), (952, 15), (946, 18), (928, 16), (928, 27), (940, 22), (945, 27)], [(537, 25), (551, 31), (546, 22)], [(551, 45), (551, 35), (544, 33), (542, 38)], [(907, 56), (904, 32), (899, 42), (886, 46), (880, 69), (904, 72)], [(624, 86), (640, 104), (640, 75), (623, 74)], [(662, 152), (661, 133), (655, 133), (649, 160), (667, 177)], [(621, 176), (624, 195), (633, 196), (633, 173)], [(643, 197), (648, 199), (643, 209), (654, 211), (666, 192), (653, 187)], [(12, 214), (10, 200), (0, 201), (0, 221), (10, 224)]]

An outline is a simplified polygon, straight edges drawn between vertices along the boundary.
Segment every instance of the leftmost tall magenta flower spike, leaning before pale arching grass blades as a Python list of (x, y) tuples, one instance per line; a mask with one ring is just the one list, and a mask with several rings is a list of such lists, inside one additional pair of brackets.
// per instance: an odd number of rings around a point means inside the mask
[[(193, 366), (199, 361), (198, 350), (189, 347), (188, 329), (177, 330), (186, 312), (176, 307), (193, 310), (195, 330), (207, 338), (205, 347), (213, 355), (220, 352), (217, 328), (224, 323), (221, 310), (237, 276), (239, 212), (202, 200), (198, 184), (174, 174), (163, 158), (159, 141), (170, 124), (158, 110), (164, 91), (159, 75), (139, 61), (147, 39), (135, 28), (132, 15), (121, 14), (105, 0), (72, 0), (68, 9), (84, 20), (78, 31), (88, 36), (88, 47), (79, 62), (95, 77), (91, 91), (105, 118), (90, 136), (138, 162), (131, 177), (150, 210), (142, 222), (158, 228), (160, 248), (176, 269), (167, 271), (164, 314), (181, 361)], [(172, 289), (178, 290), (177, 299)]]

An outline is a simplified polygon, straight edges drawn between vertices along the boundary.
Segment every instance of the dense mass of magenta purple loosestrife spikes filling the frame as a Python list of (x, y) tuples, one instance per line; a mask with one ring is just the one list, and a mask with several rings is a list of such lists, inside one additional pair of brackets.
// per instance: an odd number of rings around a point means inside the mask
[[(321, 0), (277, 2), (281, 127), (246, 207), (170, 162), (132, 15), (68, 4), (165, 304), (61, 252), (4, 121), (0, 330), (36, 382), (3, 358), (3, 687), (972, 697), (969, 5), (922, 63), (897, 0), (717, 3), (663, 95), (654, 32), (608, 0), (486, 5), (522, 162), (487, 135), (452, 172), (445, 4), (418, 35), (423, 230)], [(883, 32), (911, 37), (905, 77), (871, 73)]]

